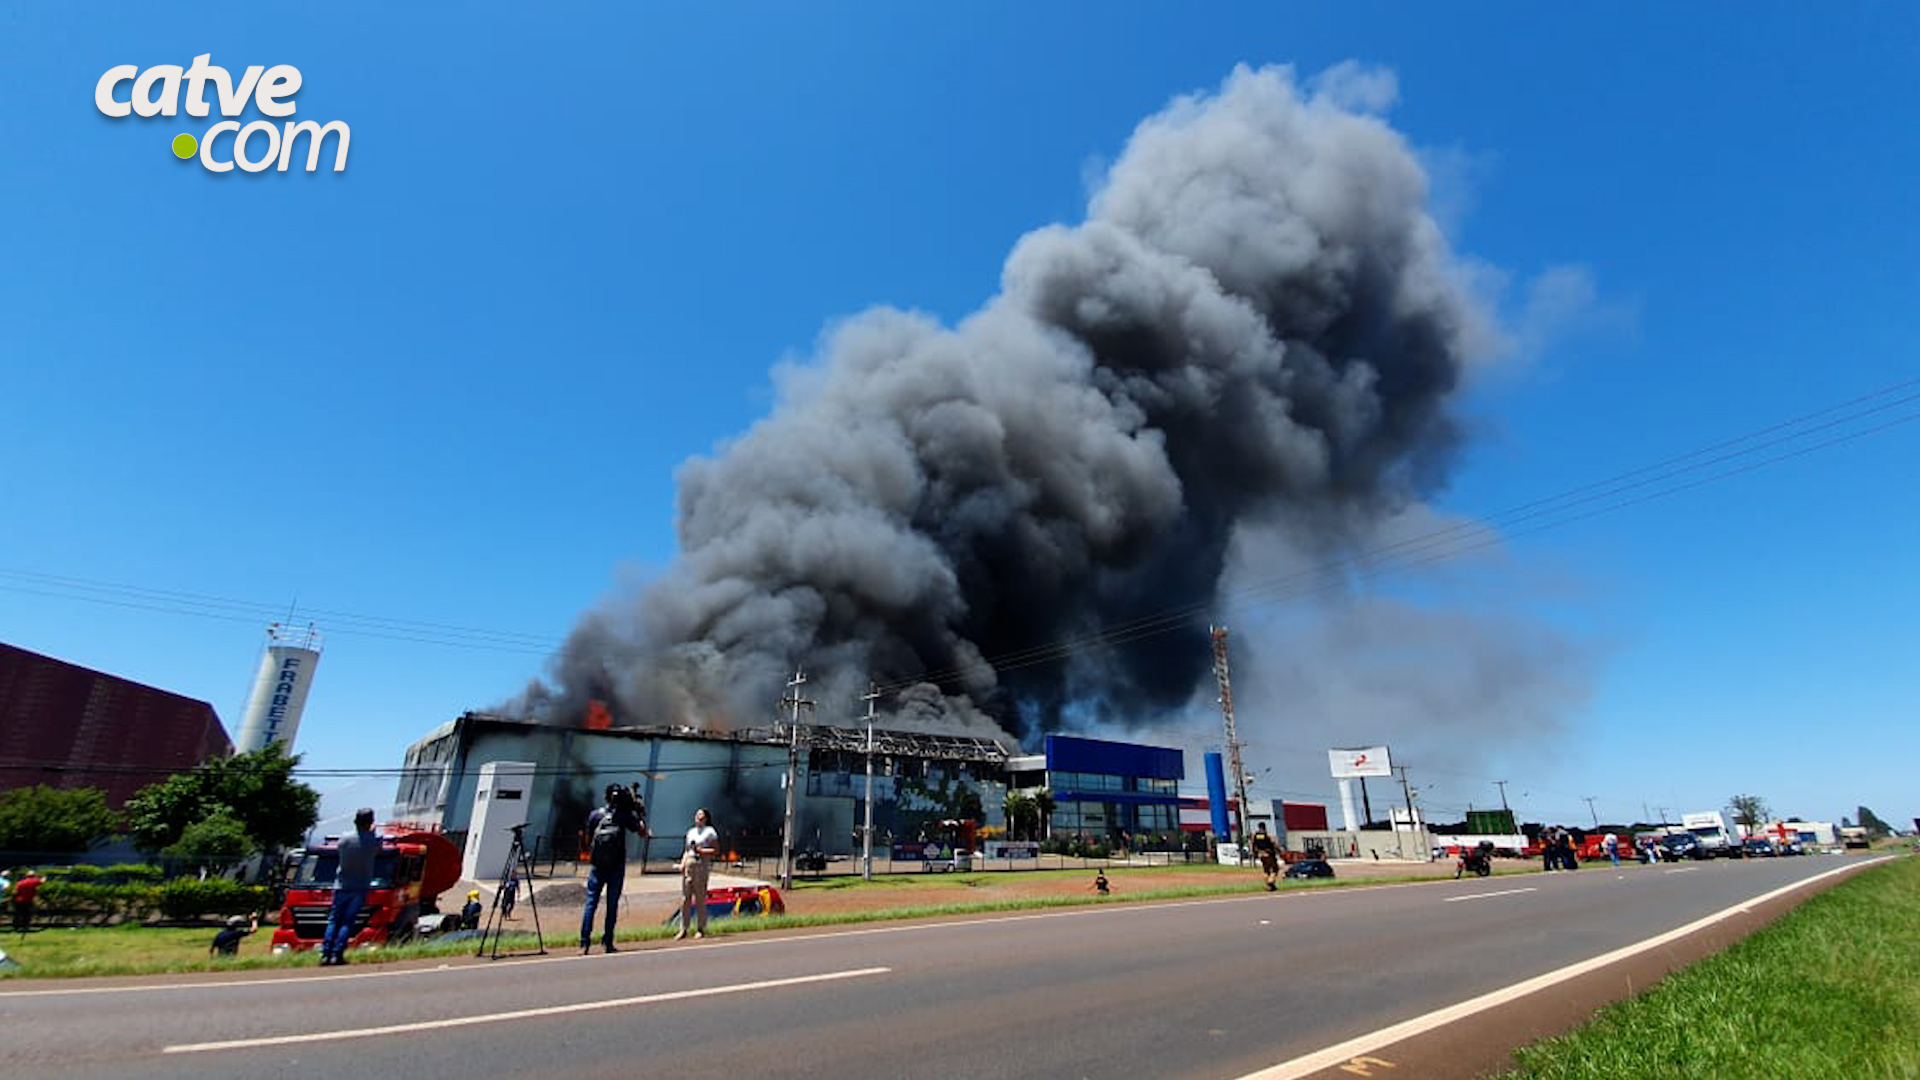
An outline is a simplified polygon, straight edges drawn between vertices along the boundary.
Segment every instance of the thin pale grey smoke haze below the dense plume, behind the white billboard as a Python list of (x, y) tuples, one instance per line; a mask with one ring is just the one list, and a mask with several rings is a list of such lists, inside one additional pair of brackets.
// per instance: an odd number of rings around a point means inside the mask
[[(1609, 646), (1530, 613), (1584, 586), (1515, 561), (1484, 525), (1425, 505), (1373, 523), (1365, 559), (1334, 567), (1323, 548), (1283, 525), (1240, 528), (1229, 553), (1235, 719), (1252, 798), (1331, 799), (1327, 749), (1377, 744), (1411, 769), (1421, 805), (1444, 821), (1500, 805), (1500, 776), (1538, 790), (1574, 746), (1567, 723), (1592, 701)], [(1434, 553), (1452, 557), (1369, 588)], [(1196, 688), (1187, 715), (1162, 719), (1154, 738), (1187, 749), (1188, 771), (1202, 749), (1219, 749), (1213, 688)], [(1398, 780), (1377, 782), (1375, 813), (1400, 798)]]

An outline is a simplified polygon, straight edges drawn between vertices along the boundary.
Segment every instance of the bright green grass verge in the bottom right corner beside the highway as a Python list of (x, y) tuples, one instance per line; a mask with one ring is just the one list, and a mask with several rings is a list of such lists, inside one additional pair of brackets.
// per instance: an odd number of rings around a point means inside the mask
[(1920, 1076), (1920, 859), (1864, 871), (1515, 1061), (1505, 1080)]

